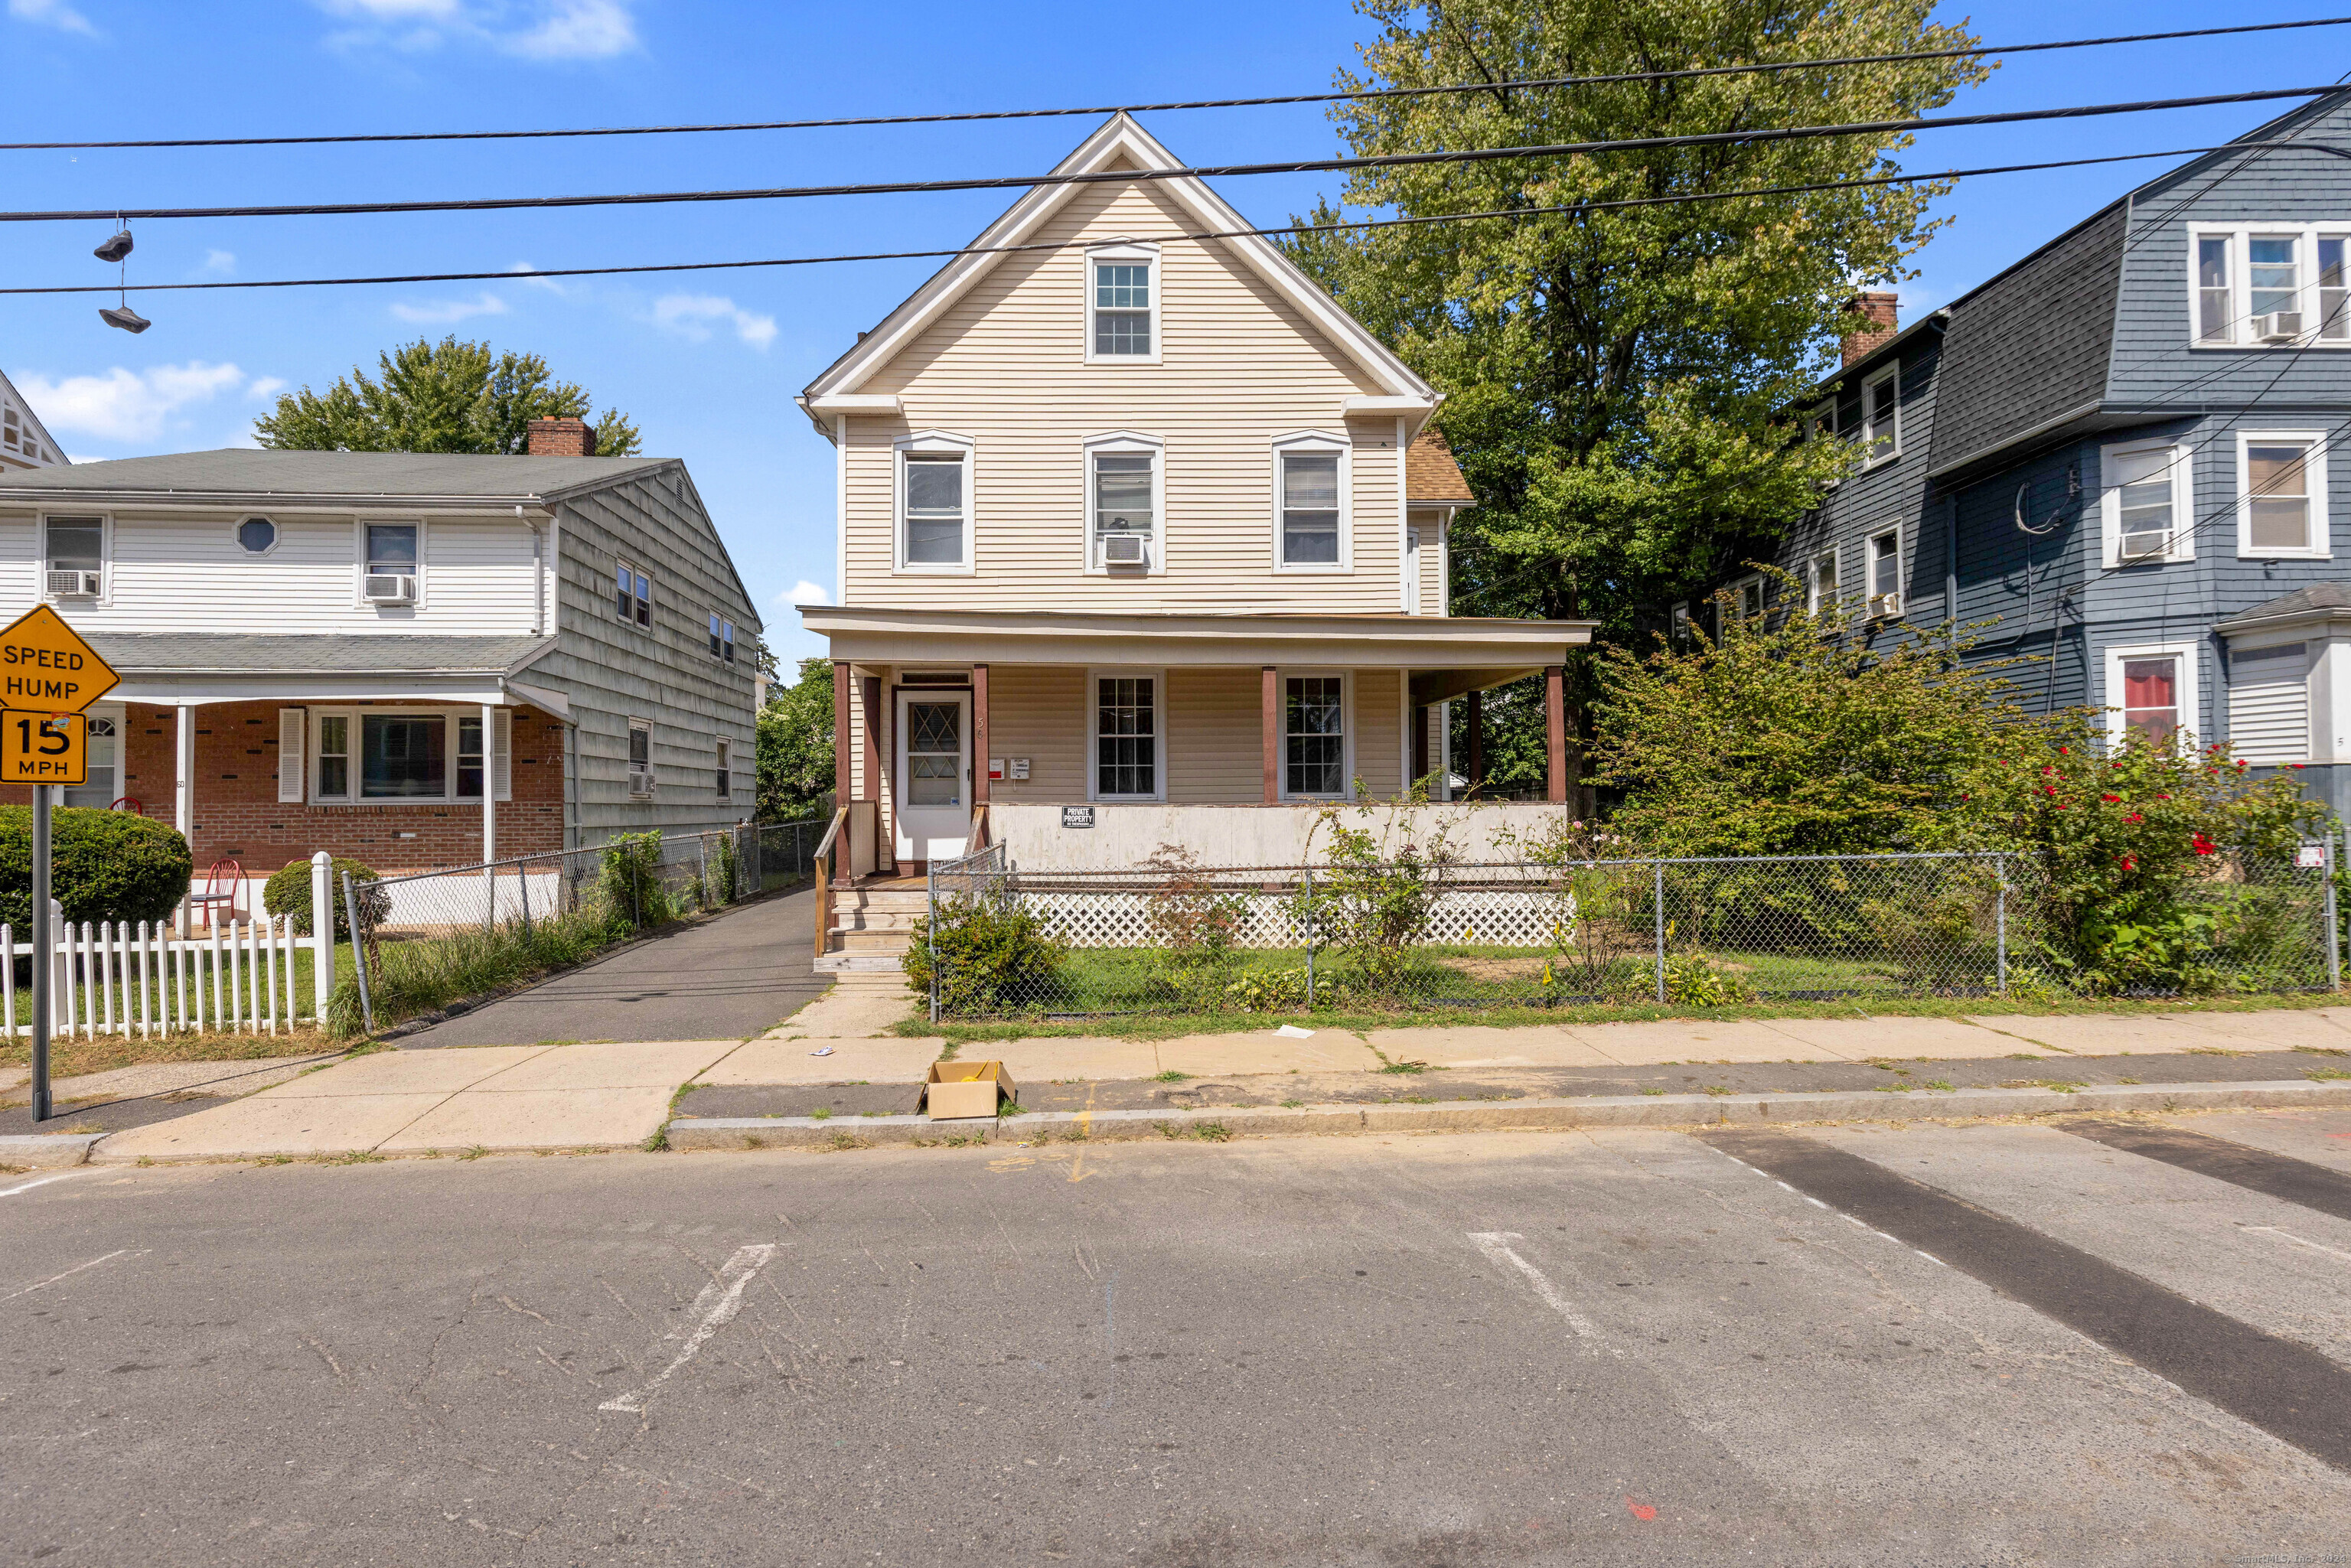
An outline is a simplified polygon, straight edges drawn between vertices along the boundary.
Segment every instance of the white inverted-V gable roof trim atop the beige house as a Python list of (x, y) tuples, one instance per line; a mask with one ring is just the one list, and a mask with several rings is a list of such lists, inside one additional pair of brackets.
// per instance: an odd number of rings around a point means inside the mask
[[(1126, 113), (1117, 113), (1105, 120), (1091, 136), (1077, 143), (1077, 148), (1053, 165), (1053, 174), (1098, 174), (1117, 169), (1121, 160), (1138, 169), (1180, 169), (1183, 162), (1168, 153), (1150, 132), (1145, 132)], [(1166, 190), (1187, 214), (1199, 221), (1199, 228), (1225, 233), (1237, 228), (1255, 228), (1248, 219), (1225, 205), (1206, 181), (1190, 174), (1176, 179), (1154, 179), (1150, 186)], [(990, 247), (1020, 244), (1037, 233), (1037, 226), (1060, 212), (1079, 190), (1086, 186), (1032, 186), (1020, 200), (1004, 209), (1004, 214), (983, 228), (978, 237), (971, 240), (971, 252), (987, 252)], [(1152, 237), (1152, 235), (1138, 235)], [(1159, 235), (1164, 237), (1164, 235)], [(1347, 315), (1328, 294), (1324, 294), (1312, 277), (1307, 277), (1295, 261), (1291, 261), (1279, 244), (1265, 235), (1232, 235), (1230, 240), (1218, 240), (1225, 244), (1241, 263), (1255, 270), (1288, 306), (1293, 306), (1302, 317), (1314, 322), (1328, 336), (1342, 355), (1354, 360), (1364, 374), (1380, 388), (1387, 397), (1413, 397), (1427, 404), (1436, 404), (1439, 393), (1422, 381), (1413, 369), (1394, 355), (1380, 339), (1375, 339), (1359, 320)], [(957, 299), (962, 299), (978, 280), (1004, 261), (1004, 252), (994, 254), (962, 254), (947, 266), (938, 268), (929, 282), (915, 289), (905, 301), (882, 317), (882, 324), (858, 339), (849, 353), (828, 364), (816, 381), (802, 393), (802, 407), (818, 397), (842, 397), (856, 395), (865, 388), (872, 376), (889, 364), (907, 343), (912, 343), (924, 327), (936, 322)], [(811, 409), (811, 418), (816, 418)], [(825, 421), (816, 421), (825, 430)], [(830, 430), (825, 430), (830, 435)]]

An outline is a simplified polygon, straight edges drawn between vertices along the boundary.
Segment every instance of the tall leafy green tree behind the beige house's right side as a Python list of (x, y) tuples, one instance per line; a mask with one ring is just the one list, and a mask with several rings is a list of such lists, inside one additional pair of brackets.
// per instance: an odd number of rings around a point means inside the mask
[[(1930, 0), (1357, 0), (1378, 35), (1342, 87), (1479, 85), (1975, 45)], [(1902, 120), (1982, 80), (1975, 56), (1592, 87), (1359, 99), (1359, 155)], [(1782, 414), (1831, 362), (1857, 287), (1895, 282), (1944, 186), (1897, 172), (1907, 136), (1502, 158), (1357, 172), (1345, 205), (1531, 212), (1310, 235), (1293, 254), (1439, 390), (1476, 510), (1453, 534), (1469, 614), (1592, 616), (1747, 559), (1848, 458)], [(1655, 197), (1780, 190), (1707, 202)], [(1625, 205), (1629, 202), (1629, 205)], [(1639, 205), (1650, 202), (1650, 205)], [(1324, 205), (1312, 221), (1342, 221)], [(1578, 701), (1589, 670), (1578, 672)], [(1502, 703), (1505, 712), (1533, 703)], [(1491, 752), (1512, 755), (1495, 736)], [(1540, 752), (1540, 748), (1538, 748)]]

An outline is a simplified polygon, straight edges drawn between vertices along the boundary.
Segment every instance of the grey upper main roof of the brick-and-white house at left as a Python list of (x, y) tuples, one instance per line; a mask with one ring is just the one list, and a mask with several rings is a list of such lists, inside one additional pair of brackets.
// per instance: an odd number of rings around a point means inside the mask
[(468, 451), (277, 451), (223, 447), (0, 475), (9, 496), (155, 496), (174, 501), (327, 498), (550, 501), (670, 468), (677, 458), (538, 458)]

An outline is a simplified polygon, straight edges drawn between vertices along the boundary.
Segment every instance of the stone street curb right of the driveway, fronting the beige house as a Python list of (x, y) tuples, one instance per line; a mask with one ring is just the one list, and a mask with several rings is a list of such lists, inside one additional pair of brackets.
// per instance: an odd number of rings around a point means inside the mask
[(2264, 1110), (2351, 1105), (2351, 1081), (2095, 1084), (2062, 1088), (1916, 1088), (1754, 1095), (1585, 1095), (1436, 1105), (1027, 1112), (1002, 1121), (929, 1117), (679, 1117), (672, 1150), (863, 1150), (947, 1140), (1041, 1143), (1143, 1138), (1295, 1138), (1328, 1133), (1502, 1133), (1578, 1126), (1721, 1126), (1796, 1121), (1954, 1121), (2057, 1112)]

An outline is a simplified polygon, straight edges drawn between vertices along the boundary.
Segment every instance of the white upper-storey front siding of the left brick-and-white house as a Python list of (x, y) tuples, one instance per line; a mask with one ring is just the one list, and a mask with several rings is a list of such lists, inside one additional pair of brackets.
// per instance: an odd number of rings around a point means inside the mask
[[(360, 534), (350, 517), (273, 517), (277, 545), (249, 555), (235, 517), (113, 515), (106, 597), (66, 614), (87, 632), (437, 632), (531, 630), (531, 531), (508, 517), (433, 517), (426, 527), (423, 602), (360, 602)], [(0, 515), (0, 595), (35, 595), (33, 510)]]

